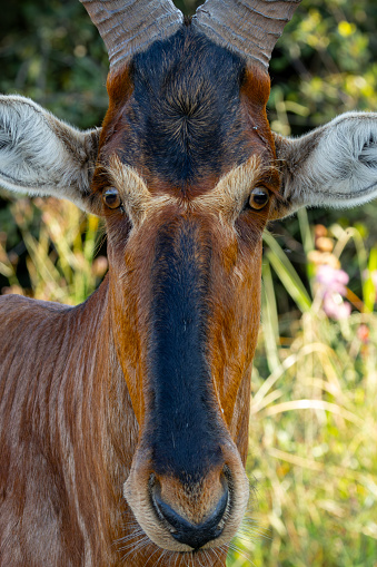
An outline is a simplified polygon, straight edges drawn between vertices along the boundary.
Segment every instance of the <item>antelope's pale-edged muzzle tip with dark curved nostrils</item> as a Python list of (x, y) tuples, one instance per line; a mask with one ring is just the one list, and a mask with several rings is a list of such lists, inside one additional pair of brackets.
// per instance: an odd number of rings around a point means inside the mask
[(151, 544), (178, 554), (227, 548), (249, 500), (245, 469), (228, 444), (231, 450), (225, 444), (221, 461), (204, 475), (156, 470), (149, 448), (138, 451), (123, 496)]

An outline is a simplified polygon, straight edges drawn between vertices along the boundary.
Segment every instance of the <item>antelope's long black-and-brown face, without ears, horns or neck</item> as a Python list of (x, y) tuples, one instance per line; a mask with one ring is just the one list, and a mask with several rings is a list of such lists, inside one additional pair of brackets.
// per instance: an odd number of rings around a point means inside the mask
[(125, 497), (163, 549), (222, 546), (249, 495), (239, 400), (259, 328), (261, 234), (279, 188), (269, 82), (185, 27), (108, 90), (93, 185), (140, 426)]

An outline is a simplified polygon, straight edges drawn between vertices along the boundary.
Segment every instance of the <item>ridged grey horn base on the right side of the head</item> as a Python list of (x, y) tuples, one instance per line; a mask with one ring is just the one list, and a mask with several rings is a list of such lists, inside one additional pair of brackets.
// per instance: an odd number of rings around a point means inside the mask
[(255, 60), (268, 72), (275, 43), (301, 0), (207, 0), (192, 23), (222, 47)]

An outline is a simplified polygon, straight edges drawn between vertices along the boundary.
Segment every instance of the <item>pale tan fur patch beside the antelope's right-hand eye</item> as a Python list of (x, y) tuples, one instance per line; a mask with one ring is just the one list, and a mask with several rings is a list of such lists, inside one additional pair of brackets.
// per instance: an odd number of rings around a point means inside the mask
[(259, 156), (251, 156), (245, 164), (221, 177), (212, 192), (197, 197), (196, 205), (210, 207), (228, 218), (237, 218), (251, 189), (266, 172)]

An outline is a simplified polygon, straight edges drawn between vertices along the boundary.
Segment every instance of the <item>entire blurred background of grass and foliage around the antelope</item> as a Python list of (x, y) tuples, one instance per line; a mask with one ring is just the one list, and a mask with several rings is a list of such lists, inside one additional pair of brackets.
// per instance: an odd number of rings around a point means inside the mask
[[(176, 3), (192, 13), (198, 2)], [(299, 135), (347, 110), (377, 110), (376, 23), (374, 0), (304, 0), (270, 66), (276, 131)], [(81, 128), (101, 123), (108, 60), (78, 0), (9, 2), (0, 60), (2, 92)], [(373, 203), (300, 212), (265, 235), (254, 499), (228, 567), (377, 566), (376, 213)], [(76, 304), (106, 270), (96, 217), (0, 193), (1, 293)]]

